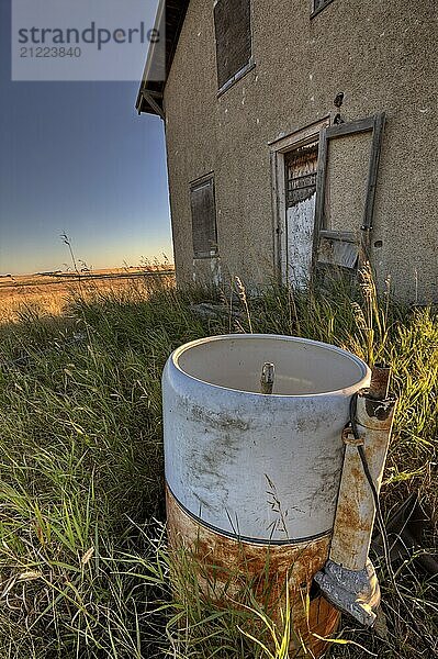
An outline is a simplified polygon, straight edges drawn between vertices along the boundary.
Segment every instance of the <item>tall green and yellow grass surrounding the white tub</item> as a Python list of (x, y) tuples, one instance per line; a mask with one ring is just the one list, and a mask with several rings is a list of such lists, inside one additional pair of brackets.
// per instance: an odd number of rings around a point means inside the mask
[[(162, 367), (177, 346), (229, 332), (314, 338), (392, 366), (398, 406), (382, 515), (416, 493), (422, 546), (393, 557), (374, 544), (379, 626), (344, 616), (330, 656), (437, 657), (437, 576), (420, 560), (438, 545), (436, 311), (378, 295), (368, 276), (348, 289), (272, 286), (254, 299), (239, 281), (235, 295), (153, 281), (56, 281), (55, 311), (35, 290), (0, 325), (0, 658), (292, 657), (293, 619), (272, 625), (250, 589), (247, 607), (229, 599), (217, 608), (190, 557), (176, 561), (166, 540)], [(200, 315), (205, 301), (222, 311)]]

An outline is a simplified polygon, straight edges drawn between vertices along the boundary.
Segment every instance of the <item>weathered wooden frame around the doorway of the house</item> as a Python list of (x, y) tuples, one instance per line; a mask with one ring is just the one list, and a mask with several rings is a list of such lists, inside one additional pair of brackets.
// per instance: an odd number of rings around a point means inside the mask
[[(272, 185), (272, 241), (276, 273), (280, 283), (288, 283), (288, 223), (285, 199), (285, 164), (287, 153), (319, 141), (321, 134), (330, 125), (330, 115), (294, 131), (289, 135), (269, 142)], [(319, 153), (318, 165), (319, 169)]]

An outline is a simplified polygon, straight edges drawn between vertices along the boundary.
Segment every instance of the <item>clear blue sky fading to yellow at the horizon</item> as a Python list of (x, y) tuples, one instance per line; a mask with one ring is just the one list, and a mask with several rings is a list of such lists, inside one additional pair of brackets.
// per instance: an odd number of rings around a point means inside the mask
[[(171, 258), (164, 129), (133, 82), (12, 82), (0, 0), (0, 273)], [(145, 46), (146, 56), (146, 46)], [(143, 63), (142, 63), (143, 66)]]

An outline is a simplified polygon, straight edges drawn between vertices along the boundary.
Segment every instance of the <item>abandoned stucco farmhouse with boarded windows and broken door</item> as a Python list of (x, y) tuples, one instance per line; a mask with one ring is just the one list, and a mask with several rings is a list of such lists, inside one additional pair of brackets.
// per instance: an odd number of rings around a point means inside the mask
[(438, 5), (164, 0), (165, 122), (179, 283), (355, 273), (437, 301)]

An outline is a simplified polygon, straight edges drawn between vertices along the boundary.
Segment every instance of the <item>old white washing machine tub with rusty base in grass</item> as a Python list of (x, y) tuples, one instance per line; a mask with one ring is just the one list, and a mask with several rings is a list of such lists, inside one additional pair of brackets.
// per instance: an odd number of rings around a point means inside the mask
[[(267, 362), (271, 394), (260, 393)], [(191, 547), (228, 593), (231, 574), (235, 593), (250, 579), (272, 617), (287, 584), (297, 656), (303, 645), (322, 656), (318, 637), (338, 624), (313, 577), (329, 551), (350, 399), (369, 382), (346, 350), (278, 335), (203, 338), (165, 367), (170, 543)]]

